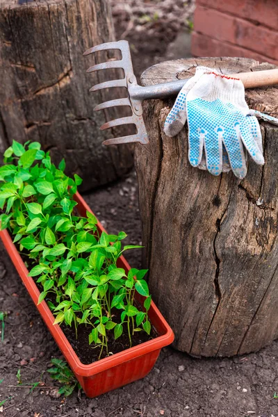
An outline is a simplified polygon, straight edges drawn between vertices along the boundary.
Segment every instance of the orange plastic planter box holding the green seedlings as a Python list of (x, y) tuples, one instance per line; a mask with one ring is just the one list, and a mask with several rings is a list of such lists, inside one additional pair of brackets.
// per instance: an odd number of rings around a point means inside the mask
[[(81, 216), (86, 216), (86, 210), (92, 213), (79, 193), (76, 193), (74, 199), (78, 203), (78, 206), (76, 207)], [(97, 223), (97, 228), (99, 231), (105, 231), (100, 222)], [(97, 395), (101, 395), (145, 377), (147, 373), (152, 370), (154, 363), (156, 363), (161, 348), (170, 345), (170, 343), (174, 341), (172, 329), (167, 325), (167, 322), (158, 311), (156, 305), (152, 302), (148, 313), (149, 320), (152, 322), (154, 329), (156, 329), (158, 337), (142, 343), (141, 345), (114, 354), (111, 357), (90, 363), (90, 365), (83, 365), (76, 356), (76, 353), (60, 326), (53, 325), (54, 316), (47, 306), (47, 303), (42, 301), (38, 304), (40, 291), (38, 290), (35, 281), (33, 281), (33, 278), (28, 277), (28, 270), (24, 265), (21, 256), (17, 252), (17, 248), (13, 244), (8, 231), (0, 231), (0, 237), (15, 268), (17, 268), (17, 272), (26, 286), (28, 293), (31, 295), (35, 306), (37, 306), (38, 311), (40, 311), (50, 333), (54, 337), (58, 347), (67, 360), (67, 363), (69, 363), (88, 397), (97, 397)], [(126, 272), (131, 268), (129, 263), (126, 262), (126, 259), (124, 259), (124, 256), (121, 256), (118, 259), (117, 265), (120, 268), (124, 268)], [(138, 294), (137, 300), (142, 305), (145, 297)]]

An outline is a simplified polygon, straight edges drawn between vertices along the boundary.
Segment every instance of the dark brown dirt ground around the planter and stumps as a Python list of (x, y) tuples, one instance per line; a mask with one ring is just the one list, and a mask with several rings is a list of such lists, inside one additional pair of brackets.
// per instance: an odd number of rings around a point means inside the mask
[[(160, 60), (190, 54), (188, 30), (192, 2), (112, 1), (117, 39), (131, 42), (137, 76)], [(189, 9), (190, 8), (190, 9)], [(152, 39), (152, 42), (149, 42)], [(124, 230), (128, 243), (140, 244), (140, 214), (135, 172), (84, 195), (109, 233)], [(126, 252), (140, 268), (140, 250)], [(278, 417), (278, 341), (246, 357), (193, 359), (167, 347), (145, 378), (88, 399), (77, 392), (56, 398), (46, 370), (61, 357), (31, 298), (0, 244), (0, 311), (6, 311), (0, 341), (0, 417)], [(42, 381), (30, 393), (17, 386)]]

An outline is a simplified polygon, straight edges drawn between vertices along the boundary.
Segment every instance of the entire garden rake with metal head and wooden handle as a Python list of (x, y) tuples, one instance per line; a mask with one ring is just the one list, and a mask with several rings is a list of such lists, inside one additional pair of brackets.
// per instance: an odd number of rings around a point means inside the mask
[[(87, 72), (121, 68), (124, 70), (124, 78), (99, 83), (90, 88), (90, 91), (102, 90), (103, 88), (125, 87), (128, 92), (128, 97), (105, 101), (96, 106), (94, 111), (104, 110), (105, 108), (115, 106), (129, 106), (132, 115), (106, 122), (100, 129), (105, 130), (114, 126), (135, 124), (137, 133), (134, 135), (122, 136), (121, 138), (104, 140), (103, 143), (104, 145), (118, 145), (120, 143), (140, 142), (145, 145), (149, 140), (147, 138), (147, 131), (142, 117), (142, 101), (146, 99), (164, 99), (171, 97), (172, 95), (177, 95), (188, 80), (173, 81), (171, 83), (156, 84), (147, 87), (138, 85), (136, 76), (133, 72), (129, 42), (127, 42), (127, 40), (106, 42), (104, 44), (96, 45), (95, 47), (88, 49), (88, 51), (85, 51), (83, 55), (89, 55), (107, 49), (120, 49), (122, 59), (93, 65)], [(263, 87), (265, 85), (274, 85), (278, 83), (278, 70), (241, 72), (239, 74), (231, 74), (231, 76), (243, 81), (245, 88)]]

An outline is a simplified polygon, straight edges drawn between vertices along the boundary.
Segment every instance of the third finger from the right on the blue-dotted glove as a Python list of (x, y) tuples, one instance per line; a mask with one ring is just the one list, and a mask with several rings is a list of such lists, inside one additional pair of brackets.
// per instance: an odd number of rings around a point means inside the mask
[[(201, 129), (204, 131), (204, 129)], [(222, 172), (222, 128), (202, 133), (204, 136), (204, 151), (208, 172), (217, 176)]]

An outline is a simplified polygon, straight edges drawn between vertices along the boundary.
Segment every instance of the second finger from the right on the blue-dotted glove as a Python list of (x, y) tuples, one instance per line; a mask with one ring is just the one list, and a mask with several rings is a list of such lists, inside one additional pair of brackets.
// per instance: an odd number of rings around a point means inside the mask
[(240, 126), (236, 122), (234, 129), (228, 128), (223, 132), (223, 142), (229, 156), (231, 170), (236, 177), (242, 179), (247, 174), (246, 158), (243, 143), (240, 140)]

